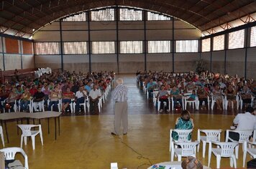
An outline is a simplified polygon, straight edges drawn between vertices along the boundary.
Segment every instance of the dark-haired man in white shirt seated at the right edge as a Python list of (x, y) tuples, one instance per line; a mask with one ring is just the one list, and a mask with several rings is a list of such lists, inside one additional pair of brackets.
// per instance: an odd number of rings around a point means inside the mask
[[(256, 130), (256, 116), (253, 114), (253, 112), (254, 109), (252, 107), (247, 107), (244, 113), (237, 114), (233, 121), (233, 125), (236, 127), (235, 130)], [(229, 132), (229, 137), (232, 138), (232, 140), (238, 141), (239, 133)]]

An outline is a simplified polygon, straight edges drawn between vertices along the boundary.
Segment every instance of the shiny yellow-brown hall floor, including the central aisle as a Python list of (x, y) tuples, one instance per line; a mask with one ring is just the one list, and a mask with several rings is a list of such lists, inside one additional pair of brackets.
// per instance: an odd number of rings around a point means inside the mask
[[(148, 168), (154, 163), (170, 160), (169, 132), (175, 125), (179, 112), (157, 113), (152, 102), (147, 100), (137, 87), (134, 75), (124, 75), (124, 83), (129, 87), (129, 132), (114, 137), (113, 102), (111, 95), (102, 112), (90, 115), (86, 112), (78, 115), (60, 117), (60, 136), (55, 140), (54, 120), (50, 120), (50, 134), (47, 133), (47, 120), (42, 120), (44, 145), (36, 137), (36, 148), (32, 150), (31, 140), (23, 146), (29, 158), (30, 169), (40, 168), (110, 168), (111, 162), (117, 162), (119, 168)], [(191, 111), (195, 123), (193, 140), (197, 139), (197, 129), (226, 130), (232, 125), (237, 111)], [(221, 115), (222, 114), (222, 115)], [(8, 122), (9, 143), (6, 147), (19, 146), (17, 123)], [(20, 133), (20, 132), (19, 132)], [(224, 140), (224, 132), (221, 134)], [(0, 147), (1, 148), (1, 147)], [(208, 150), (208, 149), (206, 149)], [(206, 151), (207, 152), (207, 151)], [(202, 148), (197, 157), (204, 165), (208, 155), (202, 158)], [(211, 157), (211, 168), (216, 168), (216, 158)], [(177, 160), (177, 159), (175, 159)], [(250, 157), (247, 156), (247, 160)], [(242, 150), (240, 146), (238, 168), (242, 168)], [(221, 159), (221, 167), (229, 168), (229, 159)]]

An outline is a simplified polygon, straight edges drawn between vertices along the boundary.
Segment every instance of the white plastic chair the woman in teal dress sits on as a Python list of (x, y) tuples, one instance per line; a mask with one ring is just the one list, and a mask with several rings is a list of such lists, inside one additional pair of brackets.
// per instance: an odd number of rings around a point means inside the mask
[[(183, 143), (183, 142), (191, 142), (191, 140), (188, 140), (188, 135), (192, 132), (193, 130), (178, 130), (178, 129), (170, 129), (170, 148), (169, 151), (172, 150), (174, 147), (174, 143)], [(173, 132), (178, 133), (178, 140), (173, 140), (172, 134)]]

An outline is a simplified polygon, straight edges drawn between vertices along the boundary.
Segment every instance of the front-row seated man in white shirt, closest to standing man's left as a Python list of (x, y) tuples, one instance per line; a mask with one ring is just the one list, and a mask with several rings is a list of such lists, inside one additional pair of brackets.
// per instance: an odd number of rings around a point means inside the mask
[(89, 92), (90, 112), (96, 110), (99, 98), (101, 98), (101, 91), (97, 89), (96, 84), (93, 84), (93, 89)]

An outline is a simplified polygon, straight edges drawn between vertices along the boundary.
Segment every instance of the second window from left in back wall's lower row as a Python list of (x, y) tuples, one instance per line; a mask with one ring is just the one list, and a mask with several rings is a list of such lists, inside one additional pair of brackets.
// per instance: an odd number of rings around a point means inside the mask
[(86, 54), (86, 42), (63, 42), (64, 54)]

